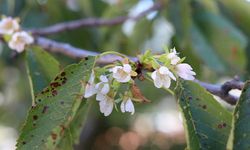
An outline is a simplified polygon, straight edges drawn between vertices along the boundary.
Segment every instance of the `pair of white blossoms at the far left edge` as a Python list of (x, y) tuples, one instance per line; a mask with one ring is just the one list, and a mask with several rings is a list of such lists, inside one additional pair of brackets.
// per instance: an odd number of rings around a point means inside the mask
[(12, 17), (3, 17), (0, 20), (0, 36), (3, 36), (8, 46), (18, 53), (23, 52), (26, 45), (34, 42), (31, 35), (20, 29), (19, 20)]

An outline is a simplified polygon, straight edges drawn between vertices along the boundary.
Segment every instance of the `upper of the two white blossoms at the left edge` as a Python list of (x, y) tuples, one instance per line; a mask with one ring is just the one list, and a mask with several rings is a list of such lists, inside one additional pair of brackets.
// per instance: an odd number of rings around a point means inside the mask
[(19, 23), (17, 19), (11, 17), (3, 18), (0, 21), (0, 34), (13, 34), (15, 31), (19, 30)]

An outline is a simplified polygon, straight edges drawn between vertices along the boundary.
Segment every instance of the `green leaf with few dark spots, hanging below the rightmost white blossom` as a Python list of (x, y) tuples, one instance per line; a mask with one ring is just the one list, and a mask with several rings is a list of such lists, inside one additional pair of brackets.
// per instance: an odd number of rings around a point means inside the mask
[(188, 149), (225, 150), (231, 114), (192, 81), (181, 81), (176, 95), (184, 119)]

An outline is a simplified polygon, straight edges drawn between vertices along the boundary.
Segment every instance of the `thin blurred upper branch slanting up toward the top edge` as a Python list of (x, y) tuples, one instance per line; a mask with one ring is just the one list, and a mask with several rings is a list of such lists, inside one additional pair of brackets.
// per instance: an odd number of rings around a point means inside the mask
[(157, 2), (149, 9), (141, 12), (137, 16), (120, 16), (114, 19), (98, 19), (98, 18), (88, 18), (88, 19), (80, 19), (75, 21), (58, 23), (49, 27), (40, 28), (40, 29), (31, 29), (33, 35), (50, 35), (55, 34), (62, 31), (75, 30), (81, 27), (99, 27), (99, 26), (114, 26), (119, 25), (127, 21), (131, 20), (139, 20), (140, 18), (146, 16), (152, 11), (156, 11), (162, 8), (162, 3)]

